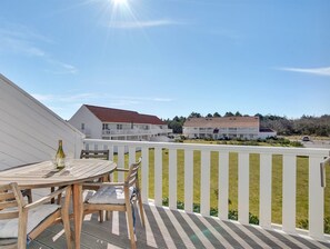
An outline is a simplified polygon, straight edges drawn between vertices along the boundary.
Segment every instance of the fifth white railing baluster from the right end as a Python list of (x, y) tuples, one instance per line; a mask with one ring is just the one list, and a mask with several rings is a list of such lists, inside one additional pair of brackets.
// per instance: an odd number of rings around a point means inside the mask
[(219, 152), (219, 188), (218, 188), (218, 217), (228, 220), (229, 199), (229, 152)]

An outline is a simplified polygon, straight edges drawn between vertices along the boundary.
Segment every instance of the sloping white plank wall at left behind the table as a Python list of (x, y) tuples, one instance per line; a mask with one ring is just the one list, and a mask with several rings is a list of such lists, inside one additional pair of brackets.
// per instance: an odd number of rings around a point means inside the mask
[(83, 135), (0, 74), (0, 170), (51, 159), (59, 139), (78, 156)]

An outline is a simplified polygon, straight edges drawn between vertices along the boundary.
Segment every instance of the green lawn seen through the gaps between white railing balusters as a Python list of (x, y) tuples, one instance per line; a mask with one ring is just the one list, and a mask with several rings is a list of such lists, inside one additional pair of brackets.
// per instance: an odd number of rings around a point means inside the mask
[[(184, 155), (178, 150), (178, 201), (184, 201)], [(139, 157), (140, 153), (137, 155)], [(126, 158), (128, 163), (128, 158)], [(193, 152), (193, 202), (200, 202), (200, 160), (199, 151)], [(169, 196), (169, 155), (162, 150), (162, 191), (163, 197)], [(297, 158), (297, 225), (308, 219), (308, 158)], [(210, 172), (210, 206), (218, 208), (218, 152), (211, 152)], [(328, 170), (329, 171), (329, 170)], [(259, 182), (260, 182), (260, 156), (250, 155), (250, 203), (249, 210), (259, 216)], [(330, 186), (330, 173), (327, 173), (327, 186)], [(149, 151), (149, 198), (154, 196), (154, 151)], [(324, 217), (330, 217), (330, 187), (324, 189)], [(229, 155), (229, 199), (230, 210), (238, 209), (238, 155)], [(272, 222), (281, 223), (282, 216), (282, 156), (272, 157)]]

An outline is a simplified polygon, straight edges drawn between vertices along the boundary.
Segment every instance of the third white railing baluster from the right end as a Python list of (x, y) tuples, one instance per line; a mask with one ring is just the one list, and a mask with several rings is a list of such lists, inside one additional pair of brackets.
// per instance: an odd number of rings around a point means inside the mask
[(259, 221), (263, 228), (271, 228), (271, 155), (260, 155), (260, 211)]

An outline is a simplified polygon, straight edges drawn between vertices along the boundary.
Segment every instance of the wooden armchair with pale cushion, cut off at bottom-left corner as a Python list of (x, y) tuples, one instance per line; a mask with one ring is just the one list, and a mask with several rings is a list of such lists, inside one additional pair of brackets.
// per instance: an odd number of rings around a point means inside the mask
[[(51, 198), (66, 191), (62, 206)], [(67, 247), (71, 248), (69, 202), (71, 187), (60, 188), (32, 203), (27, 203), (16, 182), (0, 186), (0, 248), (26, 249), (27, 243), (49, 226), (63, 222)]]

